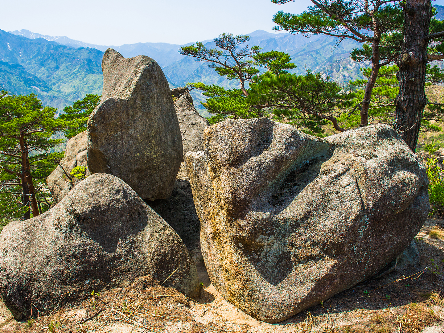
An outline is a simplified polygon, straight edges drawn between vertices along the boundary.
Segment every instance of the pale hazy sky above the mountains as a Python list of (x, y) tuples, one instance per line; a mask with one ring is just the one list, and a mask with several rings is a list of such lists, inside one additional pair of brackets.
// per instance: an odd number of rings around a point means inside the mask
[[(28, 29), (99, 45), (137, 42), (186, 44), (222, 32), (273, 32), (279, 10), (300, 13), (311, 2), (276, 5), (269, 0), (22, 0), (0, 1), (1, 30)], [(444, 5), (444, 0), (432, 4)], [(8, 13), (8, 15), (5, 15)]]

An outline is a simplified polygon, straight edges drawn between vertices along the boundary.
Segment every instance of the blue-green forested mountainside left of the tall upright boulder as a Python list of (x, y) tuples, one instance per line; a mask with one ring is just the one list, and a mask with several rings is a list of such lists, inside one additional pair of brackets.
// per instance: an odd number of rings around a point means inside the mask
[(102, 56), (97, 49), (75, 49), (0, 30), (0, 86), (13, 94), (33, 92), (61, 110), (87, 93), (101, 94)]

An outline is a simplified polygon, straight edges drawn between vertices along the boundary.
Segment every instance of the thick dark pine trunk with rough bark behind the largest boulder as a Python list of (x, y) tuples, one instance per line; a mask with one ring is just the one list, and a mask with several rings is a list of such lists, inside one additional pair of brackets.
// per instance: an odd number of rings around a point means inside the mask
[(427, 67), (425, 37), (432, 17), (430, 0), (407, 0), (404, 8), (404, 43), (396, 59), (399, 94), (396, 97), (395, 128), (415, 152), (421, 116), (427, 104), (424, 92)]

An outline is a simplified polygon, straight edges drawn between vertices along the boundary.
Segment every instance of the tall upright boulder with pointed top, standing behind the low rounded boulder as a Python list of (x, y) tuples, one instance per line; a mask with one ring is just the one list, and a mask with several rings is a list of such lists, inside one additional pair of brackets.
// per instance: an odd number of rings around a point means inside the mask
[(88, 169), (119, 177), (141, 198), (171, 195), (182, 137), (170, 88), (151, 58), (103, 55), (103, 92), (88, 119)]

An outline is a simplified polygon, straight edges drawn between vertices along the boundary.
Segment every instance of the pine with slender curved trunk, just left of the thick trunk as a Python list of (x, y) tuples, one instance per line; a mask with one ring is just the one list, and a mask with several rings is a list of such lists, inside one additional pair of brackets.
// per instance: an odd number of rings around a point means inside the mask
[[(291, 0), (271, 0), (285, 4)], [(304, 36), (324, 34), (365, 43), (353, 50), (355, 60), (370, 59), (372, 73), (367, 80), (361, 101), (360, 126), (368, 124), (369, 104), (373, 86), (381, 67), (394, 61), (400, 49), (403, 12), (399, 0), (311, 0), (313, 6), (302, 14), (283, 11), (274, 15), (275, 30), (301, 33)], [(381, 44), (382, 43), (382, 44)], [(369, 57), (368, 57), (369, 56)]]

